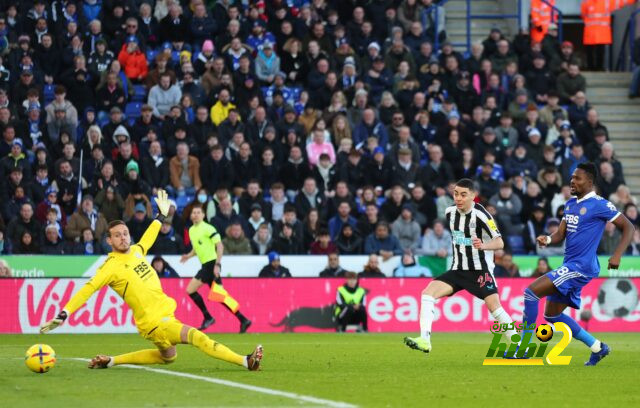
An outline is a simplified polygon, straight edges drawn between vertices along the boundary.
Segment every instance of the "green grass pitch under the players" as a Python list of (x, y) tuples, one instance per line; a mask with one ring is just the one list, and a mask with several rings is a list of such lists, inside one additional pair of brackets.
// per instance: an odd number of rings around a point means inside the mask
[[(365, 407), (640, 406), (640, 335), (601, 333), (613, 352), (584, 367), (589, 351), (573, 341), (569, 366), (484, 367), (491, 335), (433, 336), (430, 355), (407, 349), (401, 334), (212, 335), (247, 353), (265, 348), (263, 370), (248, 372), (179, 346), (178, 360), (156, 368), (225, 379)], [(21, 357), (46, 342), (58, 355), (46, 374)], [(551, 341), (554, 343), (554, 340)], [(312, 404), (200, 380), (116, 367), (88, 370), (72, 357), (148, 348), (137, 335), (0, 335), (0, 398), (5, 407), (211, 407)], [(544, 401), (544, 402), (543, 402)]]

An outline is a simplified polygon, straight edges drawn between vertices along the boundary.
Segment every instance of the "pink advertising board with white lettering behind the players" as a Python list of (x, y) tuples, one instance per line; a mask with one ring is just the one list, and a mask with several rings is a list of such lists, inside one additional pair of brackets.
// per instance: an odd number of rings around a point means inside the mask
[[(75, 293), (84, 279), (3, 279), (0, 280), (0, 333), (36, 333), (40, 325), (53, 318)], [(420, 292), (429, 279), (370, 278), (361, 279), (368, 292), (366, 298), (369, 329), (372, 332), (415, 332), (418, 330)], [(505, 310), (515, 321), (522, 319), (523, 291), (532, 282), (524, 279), (498, 279), (500, 298)], [(582, 291), (582, 308), (592, 311), (592, 331), (639, 332), (640, 308), (637, 288), (640, 279), (624, 279), (632, 289), (635, 302), (624, 318), (603, 313), (629, 300), (624, 293), (611, 291), (620, 285), (601, 288), (610, 279), (594, 279)], [(177, 302), (176, 317), (197, 326), (202, 318), (185, 290), (189, 279), (163, 279), (164, 291)], [(225, 288), (241, 305), (242, 312), (253, 321), (251, 332), (318, 332), (333, 330), (333, 304), (343, 279), (259, 279), (231, 278)], [(634, 287), (635, 286), (635, 287)], [(206, 296), (208, 288), (201, 288)], [(598, 299), (599, 291), (606, 296)], [(629, 291), (626, 292), (629, 294)], [(622, 300), (622, 301), (621, 301)], [(541, 308), (543, 307), (541, 304)], [(209, 302), (216, 317), (211, 332), (237, 332), (238, 322), (221, 305)], [(580, 311), (571, 309), (574, 318)], [(542, 310), (541, 310), (542, 316)], [(434, 331), (488, 331), (493, 323), (484, 303), (468, 293), (441, 299), (435, 309)], [(56, 332), (58, 333), (135, 333), (132, 313), (111, 289), (105, 287)]]

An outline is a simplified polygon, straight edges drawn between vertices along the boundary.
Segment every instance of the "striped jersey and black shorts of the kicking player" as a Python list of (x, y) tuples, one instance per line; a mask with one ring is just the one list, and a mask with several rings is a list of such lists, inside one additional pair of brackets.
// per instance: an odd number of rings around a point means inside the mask
[(451, 285), (454, 293), (464, 289), (480, 299), (498, 293), (493, 277), (493, 251), (475, 249), (472, 241), (478, 237), (488, 242), (500, 236), (491, 214), (477, 203), (467, 213), (454, 205), (448, 207), (445, 214), (451, 230), (453, 262), (451, 269), (436, 280)]

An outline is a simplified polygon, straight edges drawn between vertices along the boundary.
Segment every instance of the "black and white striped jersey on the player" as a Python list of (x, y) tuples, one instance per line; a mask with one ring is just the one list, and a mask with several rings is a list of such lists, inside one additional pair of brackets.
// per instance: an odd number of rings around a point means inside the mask
[(480, 204), (475, 203), (468, 213), (462, 213), (453, 205), (446, 212), (451, 230), (453, 262), (451, 270), (486, 271), (493, 273), (493, 251), (483, 251), (473, 247), (472, 238), (489, 242), (500, 236), (495, 220)]

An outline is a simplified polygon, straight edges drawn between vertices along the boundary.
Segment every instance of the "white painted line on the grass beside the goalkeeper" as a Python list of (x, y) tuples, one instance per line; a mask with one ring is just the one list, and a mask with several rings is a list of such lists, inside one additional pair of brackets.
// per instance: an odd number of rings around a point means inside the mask
[[(76, 358), (68, 358), (66, 360), (77, 360), (77, 361), (84, 361), (84, 362), (91, 361), (91, 360), (89, 360), (87, 358), (77, 358), (77, 357)], [(137, 370), (151, 371), (153, 373), (173, 375), (173, 376), (176, 376), (176, 377), (183, 377), (183, 378), (190, 378), (192, 380), (206, 381), (206, 382), (209, 382), (209, 383), (212, 383), (212, 384), (225, 385), (227, 387), (240, 388), (240, 389), (243, 389), (243, 390), (259, 392), (259, 393), (268, 394), (268, 395), (275, 395), (275, 396), (278, 396), (278, 397), (290, 398), (290, 399), (294, 399), (294, 400), (298, 400), (298, 401), (302, 401), (302, 402), (310, 402), (310, 403), (313, 403), (313, 404), (324, 405), (324, 406), (327, 406), (327, 407), (333, 407), (333, 408), (357, 408), (357, 405), (349, 404), (349, 403), (346, 403), (346, 402), (331, 401), (331, 400), (327, 400), (327, 399), (311, 397), (311, 396), (308, 396), (308, 395), (296, 394), (295, 392), (280, 391), (280, 390), (274, 390), (274, 389), (266, 388), (266, 387), (259, 387), (257, 385), (249, 385), (249, 384), (243, 384), (243, 383), (239, 383), (239, 382), (235, 382), (235, 381), (223, 380), (221, 378), (205, 377), (205, 376), (202, 376), (202, 375), (183, 373), (183, 372), (180, 372), (180, 371), (171, 371), (171, 370), (164, 370), (162, 368), (151, 368), (151, 367), (131, 365), (131, 364), (123, 364), (120, 367), (135, 368)]]

